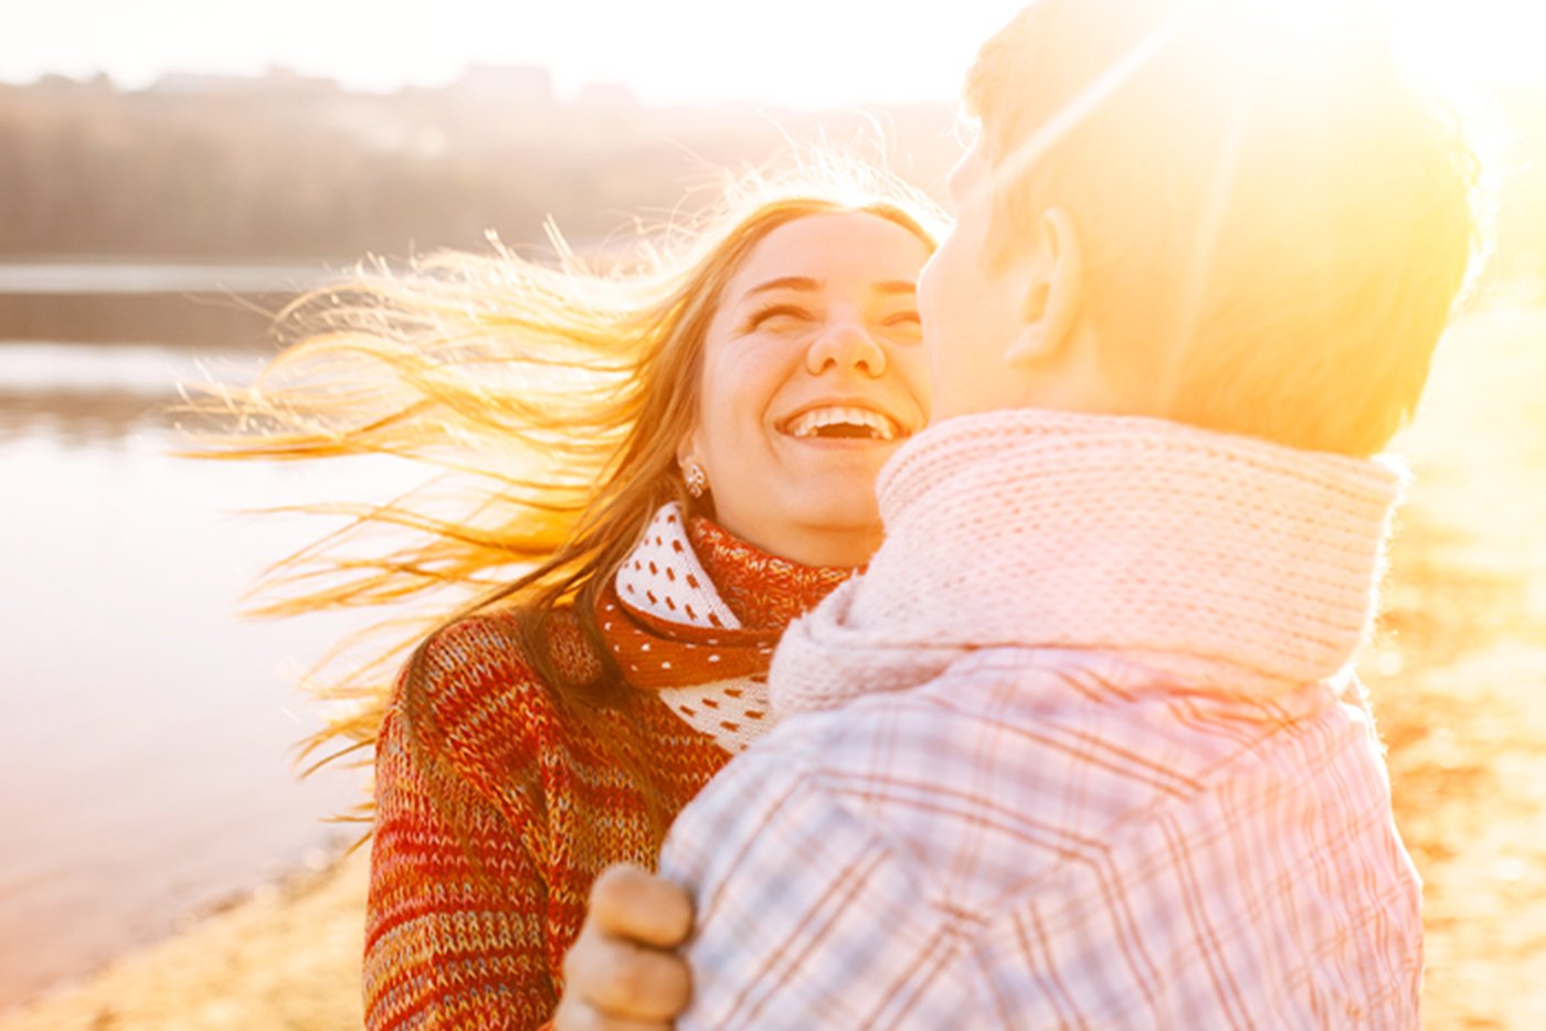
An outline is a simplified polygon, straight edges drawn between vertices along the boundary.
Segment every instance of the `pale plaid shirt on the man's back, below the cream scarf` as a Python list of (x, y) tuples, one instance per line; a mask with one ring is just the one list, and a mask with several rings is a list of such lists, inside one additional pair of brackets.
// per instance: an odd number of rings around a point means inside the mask
[(1413, 1028), (1370, 717), (999, 648), (798, 714), (682, 815), (682, 1028)]

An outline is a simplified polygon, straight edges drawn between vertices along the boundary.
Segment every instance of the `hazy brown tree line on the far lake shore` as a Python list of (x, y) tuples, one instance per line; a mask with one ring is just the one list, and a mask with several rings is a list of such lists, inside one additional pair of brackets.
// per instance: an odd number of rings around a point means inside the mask
[(479, 249), (487, 232), (536, 244), (549, 218), (595, 240), (663, 219), (724, 167), (819, 136), (869, 138), (872, 155), (937, 190), (954, 159), (951, 119), (946, 104), (651, 110), (620, 91), (380, 96), (314, 80), (0, 87), (0, 258), (402, 257)]

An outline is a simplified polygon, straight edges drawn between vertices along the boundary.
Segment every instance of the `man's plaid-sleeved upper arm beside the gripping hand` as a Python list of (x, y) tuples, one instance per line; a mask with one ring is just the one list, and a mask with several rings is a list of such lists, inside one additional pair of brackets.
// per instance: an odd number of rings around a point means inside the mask
[(963, 929), (796, 750), (731, 762), (677, 818), (660, 870), (697, 906), (680, 1028), (951, 1026), (969, 1011)]

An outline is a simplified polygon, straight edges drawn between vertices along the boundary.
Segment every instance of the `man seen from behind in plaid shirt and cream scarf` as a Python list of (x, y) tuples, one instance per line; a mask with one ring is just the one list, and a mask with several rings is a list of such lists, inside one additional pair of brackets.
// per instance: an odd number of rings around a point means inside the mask
[(682, 1026), (1418, 1025), (1350, 663), (1473, 173), (1354, 6), (1042, 0), (985, 45), (937, 425), (662, 856)]

